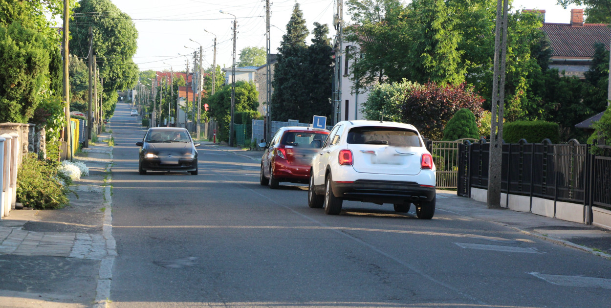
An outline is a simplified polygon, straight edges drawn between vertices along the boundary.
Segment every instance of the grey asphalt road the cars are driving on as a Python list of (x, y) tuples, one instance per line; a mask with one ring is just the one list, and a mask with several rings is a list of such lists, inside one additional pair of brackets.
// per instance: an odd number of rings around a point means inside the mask
[[(110, 128), (111, 307), (609, 307), (611, 263), (437, 200), (422, 221), (391, 205), (307, 207), (307, 188), (258, 183), (259, 165), (199, 149), (199, 175), (137, 173), (145, 131)], [(413, 207), (412, 207), (413, 210)]]

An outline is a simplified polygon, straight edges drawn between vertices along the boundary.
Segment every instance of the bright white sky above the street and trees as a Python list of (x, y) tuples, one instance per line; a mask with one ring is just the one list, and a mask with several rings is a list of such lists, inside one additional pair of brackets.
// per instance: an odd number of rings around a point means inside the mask
[[(247, 46), (265, 47), (265, 0), (112, 0), (112, 2), (134, 19), (139, 33), (138, 50), (134, 56), (134, 62), (141, 70), (169, 70), (169, 65), (163, 62), (173, 65), (176, 70), (184, 70), (186, 59), (178, 56), (178, 53), (192, 53), (192, 50), (184, 47), (185, 45), (199, 48), (199, 45), (189, 39), (202, 44), (204, 48), (202, 64), (204, 67), (210, 66), (213, 62), (214, 36), (204, 32), (203, 29), (213, 32), (218, 37), (216, 63), (221, 67), (230, 67), (232, 65), (233, 16), (220, 13), (219, 10), (238, 17), (238, 39), (236, 41), (238, 55), (240, 50)], [(276, 53), (295, 0), (271, 0), (270, 2), (272, 3), (271, 47), (272, 53)], [(316, 21), (328, 24), (330, 35), (334, 34), (335, 29), (331, 23), (337, 10), (335, 0), (299, 0), (298, 2), (304, 12), (309, 31), (312, 31), (313, 23)], [(518, 9), (546, 10), (546, 22), (548, 23), (569, 23), (570, 9), (577, 6), (573, 5), (565, 10), (556, 2), (556, 0), (514, 0), (513, 4)], [(346, 13), (344, 18), (349, 21)], [(308, 43), (310, 39), (311, 35), (307, 39)], [(192, 55), (189, 59), (191, 60), (189, 69), (192, 69)]]

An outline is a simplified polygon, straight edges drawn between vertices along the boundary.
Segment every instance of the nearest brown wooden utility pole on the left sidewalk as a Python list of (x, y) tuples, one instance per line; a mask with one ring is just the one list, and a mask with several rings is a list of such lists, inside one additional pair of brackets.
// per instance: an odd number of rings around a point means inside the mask
[(68, 13), (70, 12), (70, 2), (68, 0), (64, 0), (64, 38), (62, 39), (62, 51), (64, 53), (64, 78), (63, 78), (63, 88), (64, 88), (64, 101), (65, 101), (65, 120), (66, 127), (64, 130), (64, 136), (66, 144), (66, 150), (68, 155), (66, 158), (68, 160), (72, 160), (72, 124), (70, 122), (70, 48), (68, 46)]

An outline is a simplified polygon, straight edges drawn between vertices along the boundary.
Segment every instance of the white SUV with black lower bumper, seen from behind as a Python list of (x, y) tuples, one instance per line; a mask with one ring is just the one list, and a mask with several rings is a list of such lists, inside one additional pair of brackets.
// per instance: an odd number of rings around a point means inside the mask
[(343, 200), (393, 204), (418, 218), (435, 213), (435, 165), (420, 133), (404, 123), (337, 123), (312, 159), (308, 205), (327, 214), (342, 211)]

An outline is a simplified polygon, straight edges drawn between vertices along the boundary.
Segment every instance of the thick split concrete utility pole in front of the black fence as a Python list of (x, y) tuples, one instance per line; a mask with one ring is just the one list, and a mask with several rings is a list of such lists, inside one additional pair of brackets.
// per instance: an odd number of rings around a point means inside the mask
[(509, 0), (497, 0), (492, 78), (492, 122), (488, 165), (488, 208), (500, 208), (503, 155), (503, 111), (505, 109), (505, 59), (507, 51), (507, 9)]

